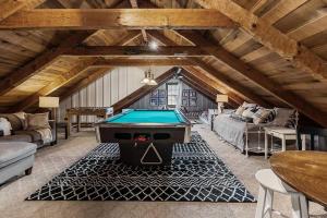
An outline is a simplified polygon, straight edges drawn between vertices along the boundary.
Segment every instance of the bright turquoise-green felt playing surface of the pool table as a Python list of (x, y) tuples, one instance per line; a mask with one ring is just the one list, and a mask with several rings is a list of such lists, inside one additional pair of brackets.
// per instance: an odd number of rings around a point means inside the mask
[(174, 110), (129, 110), (109, 118), (107, 123), (182, 123), (184, 119)]

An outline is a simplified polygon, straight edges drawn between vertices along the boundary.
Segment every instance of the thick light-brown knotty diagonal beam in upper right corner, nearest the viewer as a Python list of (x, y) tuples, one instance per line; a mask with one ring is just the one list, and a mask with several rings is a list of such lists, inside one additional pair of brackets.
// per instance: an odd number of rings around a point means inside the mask
[(327, 78), (326, 62), (304, 46), (275, 28), (265, 19), (259, 19), (232, 0), (196, 0), (206, 9), (216, 9), (230, 17), (254, 39), (277, 52), (280, 57), (318, 80)]

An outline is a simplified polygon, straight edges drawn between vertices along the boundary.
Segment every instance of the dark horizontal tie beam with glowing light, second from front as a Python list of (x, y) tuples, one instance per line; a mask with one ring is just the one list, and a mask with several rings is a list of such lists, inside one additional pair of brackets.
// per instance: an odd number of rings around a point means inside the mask
[(148, 46), (84, 46), (66, 49), (63, 56), (83, 57), (203, 57), (204, 48), (196, 46), (161, 46), (153, 50)]

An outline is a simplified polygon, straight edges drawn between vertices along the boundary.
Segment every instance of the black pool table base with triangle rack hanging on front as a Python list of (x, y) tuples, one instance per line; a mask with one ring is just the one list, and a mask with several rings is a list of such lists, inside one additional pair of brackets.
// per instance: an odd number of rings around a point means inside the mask
[(118, 143), (124, 164), (170, 165), (175, 143), (184, 143), (185, 128), (99, 128), (102, 143)]

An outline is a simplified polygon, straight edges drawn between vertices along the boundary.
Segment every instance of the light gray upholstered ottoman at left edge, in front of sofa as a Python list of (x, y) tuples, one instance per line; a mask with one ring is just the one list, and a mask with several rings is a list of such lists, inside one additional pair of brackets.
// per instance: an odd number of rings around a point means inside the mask
[(31, 174), (36, 148), (32, 143), (0, 143), (0, 184), (22, 172)]

